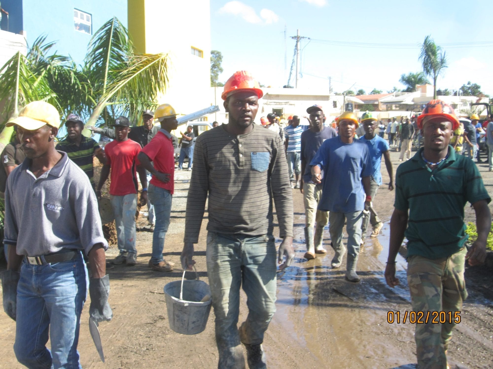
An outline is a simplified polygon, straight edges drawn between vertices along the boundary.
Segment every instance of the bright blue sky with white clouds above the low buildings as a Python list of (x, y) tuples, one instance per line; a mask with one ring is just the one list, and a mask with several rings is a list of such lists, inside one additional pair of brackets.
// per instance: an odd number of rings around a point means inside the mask
[[(404, 88), (403, 73), (422, 71), (420, 47), (431, 35), (448, 59), (437, 89), (470, 81), (493, 95), (492, 14), (491, 0), (211, 0), (211, 50), (223, 56), (220, 82), (248, 70), (282, 87), (299, 29), (310, 38), (300, 43), (299, 88), (328, 92), (330, 76), (333, 92), (387, 92)], [(294, 77), (293, 68), (291, 86)]]

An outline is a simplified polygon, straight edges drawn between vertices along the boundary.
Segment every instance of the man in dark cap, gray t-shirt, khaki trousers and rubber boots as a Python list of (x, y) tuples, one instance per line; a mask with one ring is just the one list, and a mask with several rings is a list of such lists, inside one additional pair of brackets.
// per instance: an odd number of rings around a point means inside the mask
[[(325, 115), (320, 105), (313, 105), (307, 109), (310, 114), (310, 128), (301, 134), (301, 173), (303, 175), (300, 191), (303, 193), (305, 205), (305, 243), (307, 251), (304, 258), (315, 259), (315, 254), (325, 254), (323, 248), (323, 230), (329, 222), (329, 214), (318, 210), (318, 203), (322, 195), (322, 186), (312, 181), (312, 161), (323, 141), (337, 136), (332, 127), (326, 127), (323, 122)], [(315, 227), (315, 236), (314, 228)]]

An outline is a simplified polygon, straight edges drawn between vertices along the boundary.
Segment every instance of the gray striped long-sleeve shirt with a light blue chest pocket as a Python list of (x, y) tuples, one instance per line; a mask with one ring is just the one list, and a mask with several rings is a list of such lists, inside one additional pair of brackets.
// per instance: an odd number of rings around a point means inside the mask
[(276, 205), (280, 237), (293, 235), (293, 199), (279, 134), (257, 124), (234, 136), (225, 125), (195, 143), (184, 242), (197, 243), (209, 194), (207, 229), (222, 234), (272, 234)]

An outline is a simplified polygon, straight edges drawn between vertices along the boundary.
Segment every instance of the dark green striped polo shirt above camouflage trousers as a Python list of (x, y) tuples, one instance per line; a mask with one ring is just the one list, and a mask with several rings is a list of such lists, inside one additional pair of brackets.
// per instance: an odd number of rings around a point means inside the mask
[(407, 256), (440, 259), (458, 252), (467, 241), (465, 204), (491, 199), (470, 158), (449, 146), (448, 158), (430, 170), (422, 152), (423, 148), (397, 168), (394, 207), (409, 210)]

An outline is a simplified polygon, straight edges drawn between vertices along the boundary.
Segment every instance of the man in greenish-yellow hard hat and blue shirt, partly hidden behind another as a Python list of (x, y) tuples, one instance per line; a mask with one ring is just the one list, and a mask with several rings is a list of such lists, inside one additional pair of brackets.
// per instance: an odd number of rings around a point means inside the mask
[[(366, 112), (361, 117), (361, 124), (364, 127), (365, 135), (362, 136), (360, 140), (368, 146), (368, 151), (370, 152), (373, 168), (373, 173), (370, 177), (370, 196), (372, 198), (372, 203), (375, 203), (375, 196), (377, 195), (378, 187), (382, 185), (382, 173), (380, 172), (382, 155), (384, 156), (385, 166), (387, 167), (387, 173), (390, 179), (390, 182), (388, 183), (388, 189), (390, 191), (394, 189), (392, 162), (390, 161), (390, 151), (387, 141), (384, 140), (381, 136), (377, 136), (375, 134), (377, 119), (373, 117), (372, 113)], [(366, 237), (366, 229), (368, 228), (368, 223), (371, 223), (373, 228), (370, 237), (377, 237), (380, 233), (380, 230), (384, 226), (384, 223), (380, 220), (374, 210), (373, 212), (364, 212), (363, 222), (361, 225), (361, 245), (364, 243), (364, 239)]]

